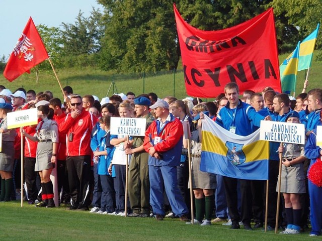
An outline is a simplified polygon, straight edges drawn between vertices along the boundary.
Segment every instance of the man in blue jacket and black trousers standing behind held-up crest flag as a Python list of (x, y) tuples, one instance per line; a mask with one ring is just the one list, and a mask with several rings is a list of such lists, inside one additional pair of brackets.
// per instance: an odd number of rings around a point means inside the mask
[[(259, 127), (261, 120), (269, 120), (270, 116), (262, 116), (256, 112), (254, 107), (238, 99), (239, 87), (236, 83), (227, 83), (224, 87), (225, 96), (228, 103), (221, 108), (216, 123), (224, 129), (240, 136), (248, 136), (253, 133), (252, 123)], [(251, 230), (252, 218), (252, 191), (250, 180), (239, 179), (241, 191), (241, 217), (237, 209), (237, 181), (236, 178), (224, 177), (223, 182), (226, 191), (226, 199), (229, 215), (231, 218), (231, 228), (238, 229), (239, 221), (243, 221), (244, 228)]]

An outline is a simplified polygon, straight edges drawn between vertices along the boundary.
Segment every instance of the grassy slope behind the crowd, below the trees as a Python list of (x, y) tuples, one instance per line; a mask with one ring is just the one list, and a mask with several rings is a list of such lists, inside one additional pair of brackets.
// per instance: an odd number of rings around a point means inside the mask
[[(314, 53), (314, 55), (316, 55)], [(280, 62), (282, 62), (288, 54), (279, 56)], [(182, 68), (181, 63), (179, 67)], [(315, 62), (313, 57), (312, 67), (309, 72), (309, 86), (311, 88), (321, 87), (321, 69), (322, 63)], [(92, 68), (80, 68), (80, 69), (62, 69), (56, 70), (58, 78), (62, 87), (66, 85), (72, 86), (74, 93), (81, 95), (93, 94), (100, 99), (105, 96), (111, 96), (113, 92), (126, 93), (132, 91), (135, 94), (148, 92), (155, 92), (160, 97), (168, 95), (175, 95), (177, 98), (184, 98), (187, 96), (184, 85), (184, 75), (182, 70), (177, 73), (172, 71), (164, 71), (158, 73), (146, 73), (143, 78), (143, 73), (140, 75), (134, 74), (115, 74), (102, 70)], [(115, 86), (112, 85), (114, 80)], [(297, 77), (296, 93), (300, 93), (303, 88), (305, 80), (305, 71), (300, 71)], [(62, 93), (59, 88), (58, 82), (53, 74), (53, 71), (40, 71), (39, 82), (36, 83), (36, 74), (23, 74), (13, 82), (9, 82), (5, 77), (0, 75), (0, 84), (5, 85), (7, 88), (14, 91), (18, 87), (24, 87), (27, 90), (34, 89), (36, 92), (51, 90), (56, 97), (61, 98)], [(108, 93), (108, 89), (111, 89)]]

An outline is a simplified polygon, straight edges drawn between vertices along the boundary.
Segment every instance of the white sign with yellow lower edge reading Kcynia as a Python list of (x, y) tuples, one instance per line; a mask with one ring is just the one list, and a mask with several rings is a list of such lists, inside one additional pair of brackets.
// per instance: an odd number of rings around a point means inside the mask
[(37, 108), (9, 112), (7, 119), (8, 129), (37, 125)]

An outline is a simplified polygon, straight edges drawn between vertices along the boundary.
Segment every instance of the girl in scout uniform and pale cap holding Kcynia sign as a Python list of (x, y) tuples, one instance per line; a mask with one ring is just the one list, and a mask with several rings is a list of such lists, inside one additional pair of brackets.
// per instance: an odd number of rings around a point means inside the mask
[(56, 163), (58, 145), (58, 126), (52, 120), (54, 110), (49, 108), (49, 102), (41, 100), (35, 105), (38, 117), (42, 119), (36, 128), (34, 136), (29, 135), (21, 128), (22, 134), (32, 141), (38, 141), (35, 172), (39, 172), (41, 181), (42, 201), (36, 207), (55, 207), (54, 190), (50, 174)]

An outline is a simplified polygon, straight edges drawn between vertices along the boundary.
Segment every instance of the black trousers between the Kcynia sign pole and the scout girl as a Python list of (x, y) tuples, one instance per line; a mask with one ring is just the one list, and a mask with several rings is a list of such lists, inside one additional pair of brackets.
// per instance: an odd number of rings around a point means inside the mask
[(25, 192), (29, 201), (35, 201), (39, 192), (36, 185), (37, 172), (35, 172), (35, 163), (36, 158), (25, 157)]

